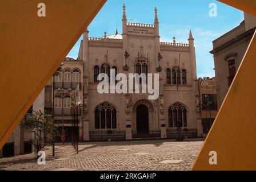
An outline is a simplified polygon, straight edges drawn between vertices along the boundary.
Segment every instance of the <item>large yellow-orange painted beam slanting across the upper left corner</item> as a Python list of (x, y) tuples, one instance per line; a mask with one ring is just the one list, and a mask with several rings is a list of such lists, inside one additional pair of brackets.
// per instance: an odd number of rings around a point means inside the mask
[(0, 1), (0, 149), (105, 2)]

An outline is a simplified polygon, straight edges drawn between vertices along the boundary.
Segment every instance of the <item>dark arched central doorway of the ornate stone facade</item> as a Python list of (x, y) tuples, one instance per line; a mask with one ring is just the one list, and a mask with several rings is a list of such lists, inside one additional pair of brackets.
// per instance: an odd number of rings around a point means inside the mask
[(146, 105), (139, 105), (136, 109), (137, 134), (149, 134), (149, 109)]

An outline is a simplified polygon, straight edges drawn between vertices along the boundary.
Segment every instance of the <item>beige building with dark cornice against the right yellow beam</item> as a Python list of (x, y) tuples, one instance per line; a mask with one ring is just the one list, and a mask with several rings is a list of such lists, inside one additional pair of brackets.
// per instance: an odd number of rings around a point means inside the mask
[(233, 30), (213, 41), (218, 108), (237, 73), (255, 32), (256, 16), (245, 13), (245, 20)]

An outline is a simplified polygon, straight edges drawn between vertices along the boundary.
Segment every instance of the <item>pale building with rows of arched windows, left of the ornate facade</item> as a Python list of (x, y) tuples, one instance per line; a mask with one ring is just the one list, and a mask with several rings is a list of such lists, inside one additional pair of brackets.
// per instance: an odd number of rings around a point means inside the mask
[[(75, 89), (79, 85), (79, 89), (81, 90), (81, 100), (83, 100), (83, 61), (82, 60), (74, 60), (67, 57), (63, 61), (62, 70), (59, 72), (58, 76), (54, 76), (53, 88), (54, 88), (54, 100), (53, 101), (53, 115), (55, 119), (55, 123), (59, 125), (59, 129), (65, 131), (66, 141), (71, 142), (71, 131), (72, 124), (74, 122), (74, 112), (71, 109), (71, 97), (75, 94)], [(50, 89), (50, 88), (47, 88)], [(47, 92), (47, 98), (50, 92)], [(47, 100), (47, 103), (50, 104), (50, 99)], [(82, 110), (79, 109), (78, 112), (79, 123), (79, 133), (82, 134)], [(57, 138), (60, 141), (60, 138)], [(82, 140), (82, 136), (80, 137)]]

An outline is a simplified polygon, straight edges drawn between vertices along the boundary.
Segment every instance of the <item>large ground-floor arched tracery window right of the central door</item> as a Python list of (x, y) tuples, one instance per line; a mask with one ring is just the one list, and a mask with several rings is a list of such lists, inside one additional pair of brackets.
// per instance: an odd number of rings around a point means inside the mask
[(169, 108), (169, 127), (187, 127), (187, 110), (182, 104), (174, 104)]

